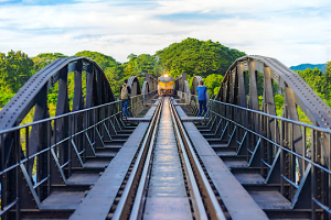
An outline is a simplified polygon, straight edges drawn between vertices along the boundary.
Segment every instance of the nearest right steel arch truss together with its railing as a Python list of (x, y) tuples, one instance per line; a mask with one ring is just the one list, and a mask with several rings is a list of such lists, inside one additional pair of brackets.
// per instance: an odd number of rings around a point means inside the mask
[[(277, 94), (284, 96), (281, 118)], [(298, 107), (313, 125), (299, 122)], [(329, 210), (331, 109), (297, 73), (275, 58), (241, 57), (210, 109), (215, 135), (259, 168), (264, 184), (280, 186), (292, 209), (312, 209), (313, 219), (317, 205)]]

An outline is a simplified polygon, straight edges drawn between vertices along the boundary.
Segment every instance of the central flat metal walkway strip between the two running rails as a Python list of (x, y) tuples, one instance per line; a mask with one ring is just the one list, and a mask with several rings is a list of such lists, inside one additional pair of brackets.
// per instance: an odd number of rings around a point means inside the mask
[(192, 219), (167, 103), (159, 123), (143, 219)]

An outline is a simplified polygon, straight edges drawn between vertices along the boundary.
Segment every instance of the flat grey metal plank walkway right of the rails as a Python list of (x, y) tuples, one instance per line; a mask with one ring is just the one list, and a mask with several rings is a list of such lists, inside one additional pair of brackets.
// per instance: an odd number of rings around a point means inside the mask
[(232, 219), (268, 219), (195, 125), (183, 124)]

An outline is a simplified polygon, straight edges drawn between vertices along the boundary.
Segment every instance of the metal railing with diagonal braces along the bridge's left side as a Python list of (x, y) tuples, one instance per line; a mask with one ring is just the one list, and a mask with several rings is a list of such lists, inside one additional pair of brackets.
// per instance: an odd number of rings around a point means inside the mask
[[(129, 110), (138, 114), (154, 94), (132, 97)], [(0, 217), (20, 219), (22, 209), (42, 209), (53, 186), (68, 185), (73, 170), (122, 127), (121, 106), (114, 101), (0, 131)], [(30, 154), (35, 144), (38, 151)]]

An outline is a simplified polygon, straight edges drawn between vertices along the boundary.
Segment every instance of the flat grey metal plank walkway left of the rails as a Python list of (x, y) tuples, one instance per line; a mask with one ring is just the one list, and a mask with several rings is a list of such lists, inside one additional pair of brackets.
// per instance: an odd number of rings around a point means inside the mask
[(70, 219), (106, 219), (147, 129), (148, 123), (137, 127)]

